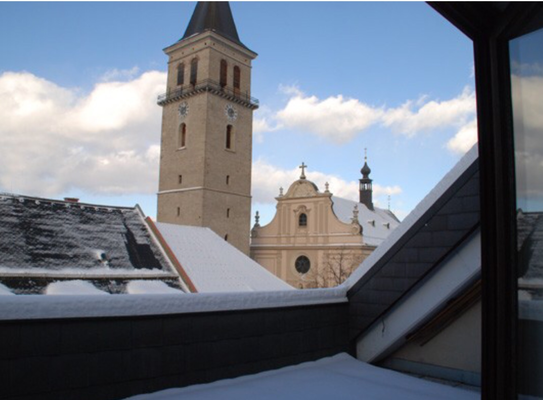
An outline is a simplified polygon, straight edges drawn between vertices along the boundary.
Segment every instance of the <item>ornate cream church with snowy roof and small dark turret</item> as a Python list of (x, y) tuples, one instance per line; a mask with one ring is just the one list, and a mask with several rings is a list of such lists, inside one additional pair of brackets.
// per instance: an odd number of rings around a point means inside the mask
[(321, 192), (305, 176), (287, 192), (281, 190), (273, 220), (260, 226), (258, 213), (251, 231), (251, 257), (296, 288), (341, 284), (394, 230), (399, 221), (374, 207), (371, 172), (361, 170), (360, 201)]

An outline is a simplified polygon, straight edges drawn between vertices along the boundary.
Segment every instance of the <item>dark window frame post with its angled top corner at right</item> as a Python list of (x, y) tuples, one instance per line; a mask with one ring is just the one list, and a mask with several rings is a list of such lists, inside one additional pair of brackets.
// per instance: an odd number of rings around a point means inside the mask
[(541, 3), (429, 3), (473, 40), (481, 193), (483, 400), (517, 399), (516, 190), (509, 41)]

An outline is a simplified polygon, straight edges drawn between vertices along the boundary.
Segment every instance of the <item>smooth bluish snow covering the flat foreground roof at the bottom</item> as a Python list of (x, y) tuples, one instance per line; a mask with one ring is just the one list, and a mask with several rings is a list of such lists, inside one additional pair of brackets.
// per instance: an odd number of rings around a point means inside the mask
[(209, 384), (127, 400), (402, 399), (476, 400), (479, 392), (430, 382), (358, 361), (346, 353)]

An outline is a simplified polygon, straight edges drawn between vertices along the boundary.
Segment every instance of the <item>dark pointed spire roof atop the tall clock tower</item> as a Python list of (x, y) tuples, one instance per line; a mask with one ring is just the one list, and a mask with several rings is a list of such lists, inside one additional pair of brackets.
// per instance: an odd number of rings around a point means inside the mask
[(214, 31), (246, 47), (239, 40), (230, 4), (226, 1), (199, 1), (181, 40), (205, 31)]

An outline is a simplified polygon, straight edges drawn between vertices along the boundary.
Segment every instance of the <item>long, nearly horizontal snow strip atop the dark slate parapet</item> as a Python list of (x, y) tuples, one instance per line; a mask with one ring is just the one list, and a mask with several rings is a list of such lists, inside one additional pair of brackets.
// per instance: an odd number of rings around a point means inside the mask
[(282, 308), (347, 302), (344, 287), (273, 292), (3, 296), (0, 320), (121, 317)]

